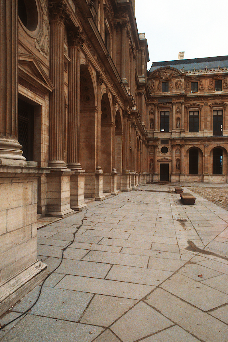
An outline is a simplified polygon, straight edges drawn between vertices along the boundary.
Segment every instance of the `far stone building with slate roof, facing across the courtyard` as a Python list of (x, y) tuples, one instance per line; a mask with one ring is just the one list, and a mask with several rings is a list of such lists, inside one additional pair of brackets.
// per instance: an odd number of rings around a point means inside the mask
[(228, 56), (153, 63), (147, 84), (151, 181), (227, 182)]

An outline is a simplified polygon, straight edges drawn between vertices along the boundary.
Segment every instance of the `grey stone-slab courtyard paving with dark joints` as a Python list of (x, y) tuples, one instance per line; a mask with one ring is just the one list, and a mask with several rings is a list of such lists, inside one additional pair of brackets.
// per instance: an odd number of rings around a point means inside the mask
[(228, 342), (228, 212), (210, 198), (227, 185), (184, 187), (197, 197), (186, 206), (173, 185), (147, 184), (40, 228), (38, 259), (55, 271), (0, 341)]

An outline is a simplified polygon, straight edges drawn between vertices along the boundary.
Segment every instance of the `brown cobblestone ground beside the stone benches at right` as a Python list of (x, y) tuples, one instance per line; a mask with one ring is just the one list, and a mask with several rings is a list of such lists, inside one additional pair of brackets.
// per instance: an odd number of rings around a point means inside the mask
[(219, 207), (228, 210), (228, 188), (227, 187), (189, 187), (189, 190), (199, 194)]

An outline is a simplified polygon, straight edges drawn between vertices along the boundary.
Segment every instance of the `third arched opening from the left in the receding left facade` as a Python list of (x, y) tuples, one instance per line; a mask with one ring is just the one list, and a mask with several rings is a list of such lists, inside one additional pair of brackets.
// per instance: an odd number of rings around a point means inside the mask
[(121, 173), (122, 173), (122, 121), (120, 112), (116, 112), (115, 122), (115, 169), (117, 170), (117, 189), (121, 189)]

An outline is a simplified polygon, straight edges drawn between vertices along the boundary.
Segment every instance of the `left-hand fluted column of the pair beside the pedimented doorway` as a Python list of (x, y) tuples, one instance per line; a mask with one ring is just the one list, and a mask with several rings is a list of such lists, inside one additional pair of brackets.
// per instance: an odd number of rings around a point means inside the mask
[(50, 79), (55, 87), (50, 94), (49, 166), (66, 168), (64, 161), (64, 22), (67, 5), (51, 1), (50, 10)]

